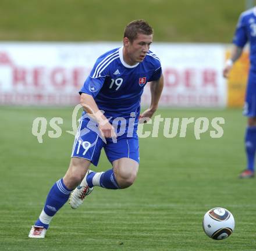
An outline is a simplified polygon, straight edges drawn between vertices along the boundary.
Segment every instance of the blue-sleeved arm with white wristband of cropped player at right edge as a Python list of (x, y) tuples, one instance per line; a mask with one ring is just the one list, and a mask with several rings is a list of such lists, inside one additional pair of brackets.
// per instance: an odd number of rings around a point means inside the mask
[(244, 13), (242, 13), (239, 17), (236, 32), (233, 37), (233, 47), (231, 51), (231, 56), (226, 61), (226, 65), (223, 69), (223, 77), (229, 77), (230, 70), (232, 69), (233, 63), (236, 62), (237, 59), (240, 58), (244, 45), (246, 45), (248, 41), (247, 31), (246, 31), (246, 23), (244, 21)]

